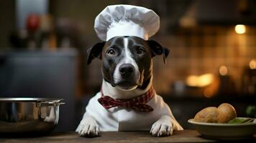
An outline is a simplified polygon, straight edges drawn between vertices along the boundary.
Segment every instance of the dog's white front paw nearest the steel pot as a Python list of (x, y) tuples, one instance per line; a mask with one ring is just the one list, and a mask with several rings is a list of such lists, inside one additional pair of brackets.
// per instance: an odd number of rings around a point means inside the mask
[(76, 132), (78, 132), (81, 137), (96, 137), (99, 136), (99, 126), (95, 119), (87, 117), (80, 122)]

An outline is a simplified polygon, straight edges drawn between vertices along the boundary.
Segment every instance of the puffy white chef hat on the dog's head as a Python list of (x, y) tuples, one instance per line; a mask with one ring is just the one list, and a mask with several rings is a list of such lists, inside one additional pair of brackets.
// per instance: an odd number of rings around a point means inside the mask
[(96, 34), (102, 41), (114, 36), (139, 36), (147, 40), (159, 27), (159, 16), (154, 11), (125, 4), (106, 6), (94, 23)]

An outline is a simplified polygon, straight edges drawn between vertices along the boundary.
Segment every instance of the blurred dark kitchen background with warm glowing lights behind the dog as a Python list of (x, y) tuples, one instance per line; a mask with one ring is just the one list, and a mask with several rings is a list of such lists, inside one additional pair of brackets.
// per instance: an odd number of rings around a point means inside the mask
[(101, 88), (101, 61), (86, 65), (99, 42), (93, 22), (110, 4), (134, 4), (160, 16), (152, 37), (170, 49), (154, 59), (154, 87), (178, 122), (228, 102), (239, 117), (256, 106), (254, 0), (0, 1), (0, 97), (60, 97), (56, 131), (73, 131)]

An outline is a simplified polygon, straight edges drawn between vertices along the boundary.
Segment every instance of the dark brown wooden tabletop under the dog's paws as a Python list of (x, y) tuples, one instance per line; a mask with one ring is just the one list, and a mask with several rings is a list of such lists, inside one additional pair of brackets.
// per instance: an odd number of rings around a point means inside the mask
[[(50, 133), (44, 137), (6, 138), (1, 137), (0, 143), (91, 143), (91, 142), (217, 142), (216, 140), (204, 139), (194, 130), (174, 132), (170, 137), (152, 137), (149, 132), (101, 132), (101, 137), (79, 137), (76, 132)], [(251, 139), (248, 142), (256, 142)]]

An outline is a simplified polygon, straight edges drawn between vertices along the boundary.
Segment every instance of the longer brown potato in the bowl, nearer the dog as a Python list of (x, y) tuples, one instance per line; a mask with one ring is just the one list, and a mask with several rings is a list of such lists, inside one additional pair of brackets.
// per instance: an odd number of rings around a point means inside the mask
[(219, 120), (219, 111), (216, 107), (206, 107), (196, 114), (194, 121), (216, 123)]

